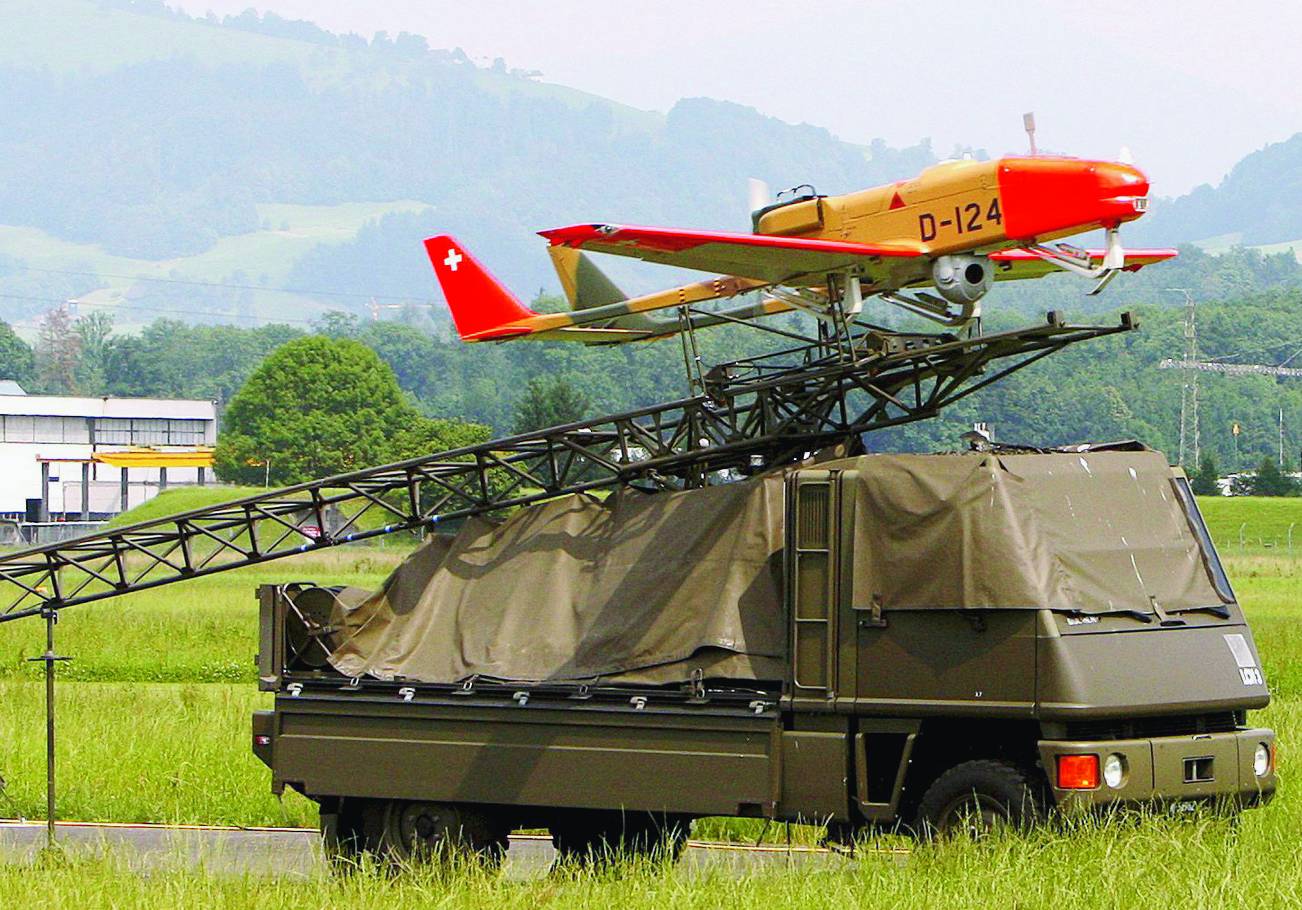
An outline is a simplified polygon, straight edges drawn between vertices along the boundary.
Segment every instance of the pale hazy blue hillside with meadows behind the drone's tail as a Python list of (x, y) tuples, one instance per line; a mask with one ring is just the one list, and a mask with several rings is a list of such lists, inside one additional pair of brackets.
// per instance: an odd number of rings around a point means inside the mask
[[(120, 305), (126, 325), (160, 306), (161, 279), (249, 285), (243, 307), (208, 294), (197, 309), (245, 319), (301, 315), (263, 288), (307, 292), (318, 311), (428, 301), (421, 240), (435, 232), (530, 292), (555, 286), (534, 236), (547, 227), (742, 228), (746, 177), (836, 193), (935, 160), (926, 142), (863, 148), (708, 99), (634, 111), (414, 35), (190, 20), (132, 0), (16, 0), (0, 25), (27, 36), (20, 47), (43, 35), (62, 64), (0, 49), (0, 293), (20, 316), (104, 285), (90, 302)], [(124, 40), (96, 53), (87, 38), (104, 31)], [(346, 232), (288, 243), (362, 203), (374, 211), (354, 210)]]

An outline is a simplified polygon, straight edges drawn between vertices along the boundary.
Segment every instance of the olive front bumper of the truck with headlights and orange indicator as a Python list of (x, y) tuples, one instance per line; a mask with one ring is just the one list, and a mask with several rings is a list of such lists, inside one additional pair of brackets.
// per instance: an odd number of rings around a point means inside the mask
[[(1259, 745), (1269, 750), (1264, 775), (1253, 767)], [(1039, 751), (1053, 799), (1062, 808), (1115, 803), (1150, 803), (1174, 812), (1200, 805), (1246, 808), (1275, 795), (1275, 732), (1267, 729), (1094, 742), (1042, 739)], [(1059, 759), (1073, 755), (1098, 759), (1095, 786), (1061, 786)], [(1109, 755), (1120, 756), (1124, 769), (1115, 786), (1103, 775)]]

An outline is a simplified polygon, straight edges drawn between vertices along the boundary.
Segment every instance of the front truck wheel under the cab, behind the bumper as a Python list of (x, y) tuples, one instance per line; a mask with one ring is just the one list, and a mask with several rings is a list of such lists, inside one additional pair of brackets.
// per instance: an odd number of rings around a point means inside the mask
[(927, 788), (913, 829), (923, 838), (963, 832), (980, 837), (1000, 827), (1025, 831), (1042, 818), (1039, 793), (1026, 772), (979, 759), (956, 764)]

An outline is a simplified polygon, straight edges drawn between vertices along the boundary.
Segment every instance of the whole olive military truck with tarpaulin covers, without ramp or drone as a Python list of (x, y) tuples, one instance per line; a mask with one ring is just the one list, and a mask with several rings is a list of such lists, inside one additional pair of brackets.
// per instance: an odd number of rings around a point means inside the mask
[(499, 858), (521, 827), (673, 853), (700, 816), (930, 836), (1276, 786), (1253, 634), (1185, 475), (1135, 444), (569, 496), (378, 592), (258, 596), (253, 749), (339, 854)]

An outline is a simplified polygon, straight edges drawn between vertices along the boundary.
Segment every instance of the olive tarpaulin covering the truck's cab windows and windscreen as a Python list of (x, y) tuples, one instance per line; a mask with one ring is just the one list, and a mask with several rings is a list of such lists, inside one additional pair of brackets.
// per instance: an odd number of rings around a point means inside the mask
[(855, 607), (1223, 603), (1159, 452), (867, 456), (852, 470)]

